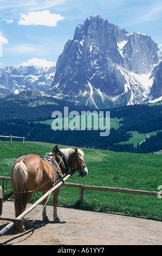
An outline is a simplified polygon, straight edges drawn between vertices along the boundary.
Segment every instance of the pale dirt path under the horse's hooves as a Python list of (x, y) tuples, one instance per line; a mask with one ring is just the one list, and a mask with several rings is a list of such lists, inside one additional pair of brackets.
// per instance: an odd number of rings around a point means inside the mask
[[(25, 217), (32, 220), (38, 205)], [(47, 206), (49, 222), (37, 220), (18, 234), (12, 227), (0, 237), (0, 245), (162, 245), (162, 222), (92, 211), (58, 207), (61, 223), (55, 224), (53, 206)], [(14, 202), (3, 204), (3, 216), (14, 217)], [(0, 221), (0, 230), (9, 222)]]

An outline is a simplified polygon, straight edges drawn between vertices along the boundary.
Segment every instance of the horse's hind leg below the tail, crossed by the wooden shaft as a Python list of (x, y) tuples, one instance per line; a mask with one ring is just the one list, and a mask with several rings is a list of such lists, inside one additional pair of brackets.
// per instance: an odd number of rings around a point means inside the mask
[[(25, 193), (24, 198), (23, 198), (23, 210), (21, 210), (21, 212), (17, 211), (16, 212), (16, 217), (18, 217), (19, 215), (22, 214), (22, 212), (25, 210), (25, 208), (27, 206), (27, 203), (29, 202), (29, 200), (31, 199), (32, 196), (33, 196), (33, 192)], [(25, 228), (24, 228), (23, 221), (22, 222), (16, 222), (15, 223), (15, 228), (16, 228), (16, 230), (18, 230), (18, 232), (21, 232), (21, 233), (24, 232)]]

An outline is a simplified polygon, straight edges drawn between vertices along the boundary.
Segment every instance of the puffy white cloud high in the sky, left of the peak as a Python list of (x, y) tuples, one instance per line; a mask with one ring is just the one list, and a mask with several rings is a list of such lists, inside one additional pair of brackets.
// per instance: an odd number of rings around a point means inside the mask
[(41, 25), (55, 27), (58, 21), (64, 19), (60, 14), (51, 14), (49, 10), (33, 11), (32, 13), (21, 14), (19, 25)]

